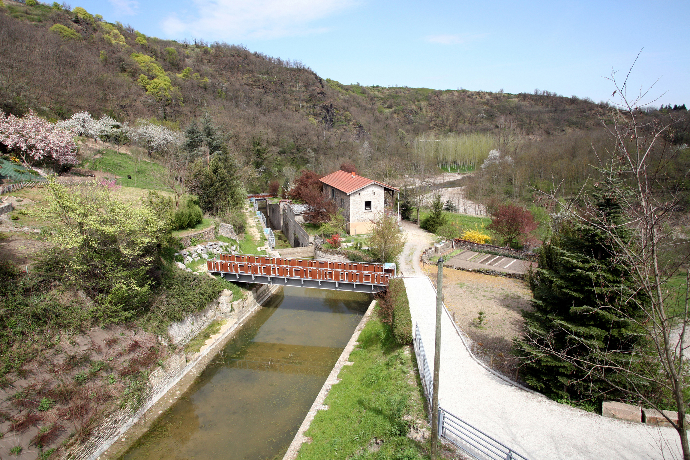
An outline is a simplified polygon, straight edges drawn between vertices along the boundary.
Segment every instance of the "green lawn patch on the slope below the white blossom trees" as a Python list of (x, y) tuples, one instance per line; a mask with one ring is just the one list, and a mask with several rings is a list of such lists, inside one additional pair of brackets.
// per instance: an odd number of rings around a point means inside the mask
[[(119, 178), (117, 183), (121, 186), (159, 190), (165, 188), (153, 175), (155, 172), (163, 172), (165, 170), (163, 166), (147, 159), (140, 161), (137, 166), (134, 158), (124, 152), (118, 153), (115, 150), (106, 149), (103, 150), (100, 158), (88, 159), (79, 166), (117, 175)], [(132, 179), (127, 179), (127, 176), (131, 176)]]

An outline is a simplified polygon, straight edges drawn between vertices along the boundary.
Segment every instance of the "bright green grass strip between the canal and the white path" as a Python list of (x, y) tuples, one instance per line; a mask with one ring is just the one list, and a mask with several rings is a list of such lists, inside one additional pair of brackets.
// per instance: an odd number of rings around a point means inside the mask
[[(331, 388), (305, 436), (298, 460), (426, 459), (431, 448), (414, 352), (398, 346), (391, 329), (372, 317), (359, 335), (342, 379)], [(416, 367), (416, 366), (415, 366)], [(408, 437), (408, 434), (410, 436)], [(417, 439), (415, 441), (415, 439)], [(444, 458), (456, 458), (444, 452)]]

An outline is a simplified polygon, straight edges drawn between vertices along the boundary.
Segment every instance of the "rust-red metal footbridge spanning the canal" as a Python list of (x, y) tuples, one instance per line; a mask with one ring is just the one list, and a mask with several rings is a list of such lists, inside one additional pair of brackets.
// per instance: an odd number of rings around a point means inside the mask
[(381, 292), (395, 277), (395, 263), (361, 263), (289, 259), (252, 254), (219, 254), (207, 262), (208, 272), (228, 281)]

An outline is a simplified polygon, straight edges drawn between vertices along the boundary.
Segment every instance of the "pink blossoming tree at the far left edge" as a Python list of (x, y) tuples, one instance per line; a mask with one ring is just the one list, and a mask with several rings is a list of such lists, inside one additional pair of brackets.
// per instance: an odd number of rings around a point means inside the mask
[(37, 161), (52, 161), (57, 170), (59, 165), (77, 161), (74, 134), (39, 117), (33, 110), (22, 118), (12, 114), (6, 118), (2, 114), (0, 143), (14, 150), (26, 166)]

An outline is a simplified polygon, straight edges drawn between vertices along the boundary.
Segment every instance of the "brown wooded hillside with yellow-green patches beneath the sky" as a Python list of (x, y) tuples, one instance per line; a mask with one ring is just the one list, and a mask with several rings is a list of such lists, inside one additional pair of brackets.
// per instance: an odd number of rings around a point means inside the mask
[[(535, 152), (530, 159), (558, 157), (554, 168), (550, 159), (539, 168), (564, 177), (559, 168), (569, 168), (573, 159), (588, 161), (591, 152), (580, 147), (591, 150), (592, 138), (601, 137), (599, 117), (607, 111), (591, 99), (544, 90), (344, 85), (302, 63), (242, 46), (147, 37), (83, 8), (6, 0), (0, 8), (0, 109), (21, 115), (30, 108), (53, 120), (87, 110), (130, 123), (157, 119), (172, 128), (185, 128), (208, 111), (241, 161), (266, 158), (264, 176), (274, 179), (288, 165), (325, 173), (344, 159), (362, 174), (391, 179), (408, 172), (413, 162), (400, 159), (410, 157), (418, 136), (449, 132), (489, 135), (513, 158), (526, 143), (573, 136), (574, 142), (562, 138), (527, 148)], [(682, 140), (687, 133), (685, 123), (676, 134)], [(576, 144), (578, 152), (559, 154), (564, 143)], [(573, 181), (582, 177), (579, 169)], [(523, 183), (535, 172), (525, 174)]]

